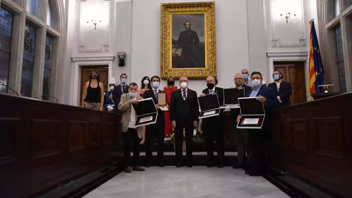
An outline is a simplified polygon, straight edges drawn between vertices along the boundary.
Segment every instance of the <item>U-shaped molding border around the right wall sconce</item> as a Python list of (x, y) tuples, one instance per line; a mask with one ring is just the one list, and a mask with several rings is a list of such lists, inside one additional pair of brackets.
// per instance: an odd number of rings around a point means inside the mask
[(304, 18), (303, 18), (303, 0), (298, 0), (300, 1), (300, 8), (301, 8), (301, 14), (300, 14), (300, 23), (301, 23), (301, 34), (300, 36), (295, 37), (295, 42), (292, 43), (283, 43), (281, 41), (281, 38), (278, 36), (275, 36), (275, 22), (274, 22), (274, 15), (273, 15), (273, 8), (272, 8), (272, 1), (270, 0), (270, 30), (271, 30), (271, 47), (272, 48), (279, 48), (279, 47), (306, 47), (307, 46), (307, 39), (305, 37), (305, 30), (304, 30)]

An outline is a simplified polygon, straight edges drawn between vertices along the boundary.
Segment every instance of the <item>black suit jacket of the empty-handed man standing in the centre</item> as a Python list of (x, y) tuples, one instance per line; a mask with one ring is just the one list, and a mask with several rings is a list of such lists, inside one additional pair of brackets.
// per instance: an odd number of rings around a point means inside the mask
[(198, 121), (199, 106), (197, 92), (188, 88), (187, 98), (183, 100), (181, 89), (171, 93), (170, 99), (170, 120), (177, 123), (183, 123), (185, 118), (187, 122)]

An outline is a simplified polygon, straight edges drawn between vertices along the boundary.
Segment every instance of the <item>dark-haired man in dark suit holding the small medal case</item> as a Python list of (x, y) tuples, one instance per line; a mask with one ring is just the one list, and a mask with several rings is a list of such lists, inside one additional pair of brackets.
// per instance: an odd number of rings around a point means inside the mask
[(163, 163), (163, 155), (164, 155), (164, 132), (165, 132), (165, 116), (164, 116), (164, 111), (162, 111), (158, 107), (158, 93), (163, 93), (159, 89), (160, 85), (160, 78), (159, 76), (153, 76), (150, 78), (150, 83), (152, 86), (152, 89), (149, 89), (144, 92), (143, 97), (144, 98), (153, 98), (154, 103), (156, 104), (156, 107), (158, 109), (158, 118), (155, 124), (151, 124), (146, 126), (146, 164), (145, 167), (150, 167), (151, 162), (152, 162), (152, 157), (153, 157), (153, 140), (154, 137), (156, 137), (157, 140), (157, 149), (158, 149), (158, 155), (157, 155), (157, 165), (159, 167), (164, 167)]

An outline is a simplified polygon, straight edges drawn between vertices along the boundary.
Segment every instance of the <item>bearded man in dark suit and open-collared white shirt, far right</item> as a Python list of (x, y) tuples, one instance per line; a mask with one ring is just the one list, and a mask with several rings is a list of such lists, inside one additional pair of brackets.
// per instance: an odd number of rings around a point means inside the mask
[(284, 75), (279, 71), (275, 71), (274, 74), (272, 74), (272, 78), (275, 80), (275, 82), (270, 83), (268, 87), (274, 89), (277, 100), (280, 103), (279, 105), (280, 106), (290, 105), (291, 104), (290, 97), (292, 94), (291, 83), (284, 82), (282, 80), (284, 78)]

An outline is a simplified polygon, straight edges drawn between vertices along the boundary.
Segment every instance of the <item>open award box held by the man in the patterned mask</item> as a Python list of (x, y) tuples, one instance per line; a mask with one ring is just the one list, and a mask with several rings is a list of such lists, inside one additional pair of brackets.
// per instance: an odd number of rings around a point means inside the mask
[(239, 88), (228, 88), (224, 89), (224, 105), (222, 105), (221, 109), (235, 109), (239, 108), (240, 105), (238, 103), (239, 98), (244, 98), (244, 87)]

